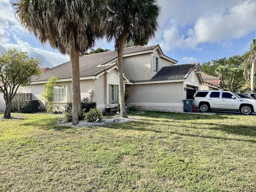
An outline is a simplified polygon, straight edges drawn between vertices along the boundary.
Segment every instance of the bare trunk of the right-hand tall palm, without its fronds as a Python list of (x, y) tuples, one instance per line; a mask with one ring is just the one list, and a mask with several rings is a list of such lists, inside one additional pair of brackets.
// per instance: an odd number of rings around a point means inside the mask
[(121, 117), (124, 117), (124, 118), (127, 118), (127, 112), (126, 112), (125, 100), (124, 100), (123, 54), (124, 54), (124, 45), (126, 42), (127, 33), (128, 33), (128, 26), (124, 26), (121, 42), (118, 48), (119, 102), (120, 102)]

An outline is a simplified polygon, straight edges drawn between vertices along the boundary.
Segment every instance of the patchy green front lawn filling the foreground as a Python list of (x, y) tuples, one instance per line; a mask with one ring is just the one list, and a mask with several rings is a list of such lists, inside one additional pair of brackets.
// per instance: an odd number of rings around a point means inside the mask
[(253, 192), (256, 116), (168, 112), (107, 127), (0, 120), (0, 192)]

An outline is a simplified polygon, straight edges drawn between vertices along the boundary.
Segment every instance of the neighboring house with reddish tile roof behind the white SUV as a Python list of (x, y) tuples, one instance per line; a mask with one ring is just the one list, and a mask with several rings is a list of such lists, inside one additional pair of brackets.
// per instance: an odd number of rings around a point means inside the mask
[(200, 86), (200, 90), (223, 90), (220, 78), (201, 73), (204, 85)]

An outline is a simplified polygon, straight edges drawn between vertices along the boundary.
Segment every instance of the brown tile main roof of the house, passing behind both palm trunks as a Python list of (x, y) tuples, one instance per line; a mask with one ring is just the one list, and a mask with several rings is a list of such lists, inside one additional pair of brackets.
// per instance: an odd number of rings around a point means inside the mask
[[(159, 47), (159, 45), (153, 46), (132, 46), (124, 48), (124, 55), (132, 54), (137, 52), (143, 52), (148, 50), (153, 50), (154, 48)], [(91, 55), (84, 55), (79, 57), (79, 68), (80, 68), (80, 77), (94, 76), (101, 72), (102, 70), (111, 68), (114, 66), (106, 65), (111, 63), (117, 58), (117, 52), (115, 50), (108, 52), (101, 52)], [(50, 77), (57, 76), (58, 79), (68, 79), (72, 77), (70, 61), (60, 64), (54, 68), (45, 70), (40, 76), (32, 76), (32, 82), (36, 81), (47, 81)]]

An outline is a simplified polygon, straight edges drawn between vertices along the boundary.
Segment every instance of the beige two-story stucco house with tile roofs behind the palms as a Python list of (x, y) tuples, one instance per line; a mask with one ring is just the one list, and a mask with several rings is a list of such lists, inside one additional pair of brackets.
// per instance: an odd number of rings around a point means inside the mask
[[(165, 56), (159, 45), (133, 46), (124, 49), (124, 87), (129, 90), (129, 104), (147, 110), (183, 111), (183, 99), (203, 84), (199, 63), (175, 65), (178, 61)], [(108, 51), (79, 58), (81, 98), (97, 103), (104, 112), (118, 104), (118, 57)], [(32, 83), (22, 87), (31, 92), (32, 100), (41, 100), (44, 84), (57, 76), (55, 110), (64, 111), (72, 102), (70, 62), (32, 76)], [(40, 101), (41, 109), (45, 102)]]

